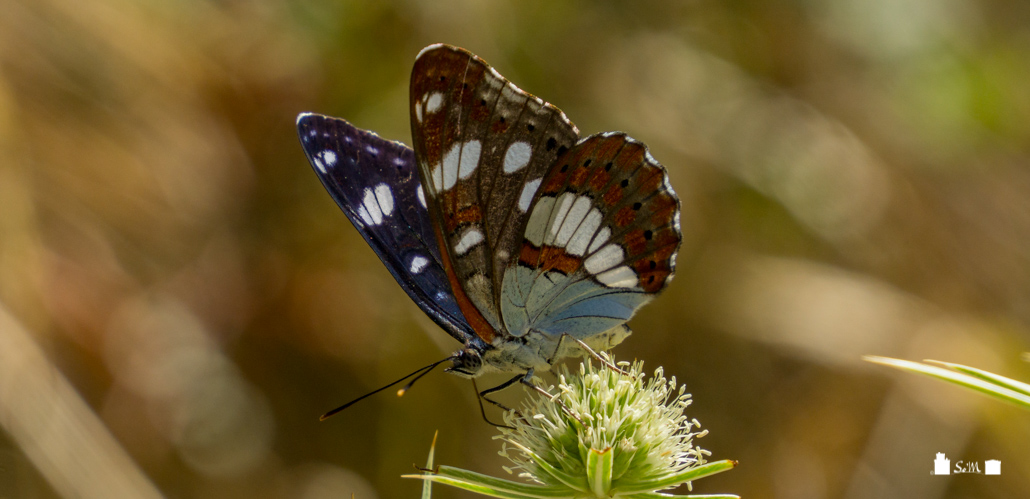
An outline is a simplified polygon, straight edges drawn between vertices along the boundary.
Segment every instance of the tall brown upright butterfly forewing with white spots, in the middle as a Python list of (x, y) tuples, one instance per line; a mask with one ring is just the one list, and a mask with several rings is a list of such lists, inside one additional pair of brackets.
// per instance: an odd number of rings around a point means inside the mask
[(444, 268), (469, 323), (491, 341), (504, 331), (501, 287), (530, 203), (579, 132), (554, 106), (448, 45), (417, 58), (411, 118)]

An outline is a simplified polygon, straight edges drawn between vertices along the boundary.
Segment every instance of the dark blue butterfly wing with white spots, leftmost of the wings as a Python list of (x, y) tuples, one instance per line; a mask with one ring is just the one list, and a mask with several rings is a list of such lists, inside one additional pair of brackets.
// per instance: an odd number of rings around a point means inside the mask
[(478, 340), (440, 263), (414, 152), (321, 114), (302, 113), (297, 131), (325, 190), (401, 288), (458, 341)]

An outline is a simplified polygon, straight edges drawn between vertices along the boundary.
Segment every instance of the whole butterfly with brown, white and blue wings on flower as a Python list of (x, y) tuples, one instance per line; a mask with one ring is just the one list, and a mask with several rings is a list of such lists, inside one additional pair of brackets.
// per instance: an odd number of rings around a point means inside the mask
[(580, 138), (557, 107), (447, 44), (418, 54), (410, 104), (414, 147), (321, 114), (297, 128), (357, 232), (462, 343), (447, 370), (549, 370), (628, 336), (682, 239), (648, 148), (621, 132)]

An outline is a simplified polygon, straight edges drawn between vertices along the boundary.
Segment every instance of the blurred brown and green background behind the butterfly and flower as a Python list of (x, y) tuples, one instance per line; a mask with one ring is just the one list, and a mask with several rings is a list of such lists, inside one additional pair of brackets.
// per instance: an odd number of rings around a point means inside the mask
[(504, 474), (443, 372), (317, 421), (458, 344), (295, 119), (410, 143), (440, 41), (668, 168), (678, 274), (616, 354), (740, 461), (695, 493), (1030, 489), (1030, 414), (860, 360), (1030, 379), (1026, 2), (3, 0), (0, 497), (417, 497), (437, 430), (438, 463)]

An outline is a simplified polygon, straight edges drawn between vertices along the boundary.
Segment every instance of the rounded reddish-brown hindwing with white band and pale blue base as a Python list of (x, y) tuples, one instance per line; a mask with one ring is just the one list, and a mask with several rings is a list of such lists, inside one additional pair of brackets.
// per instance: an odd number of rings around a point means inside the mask
[(644, 144), (593, 135), (544, 177), (524, 235), (503, 287), (506, 329), (589, 338), (627, 321), (672, 278), (679, 199)]

